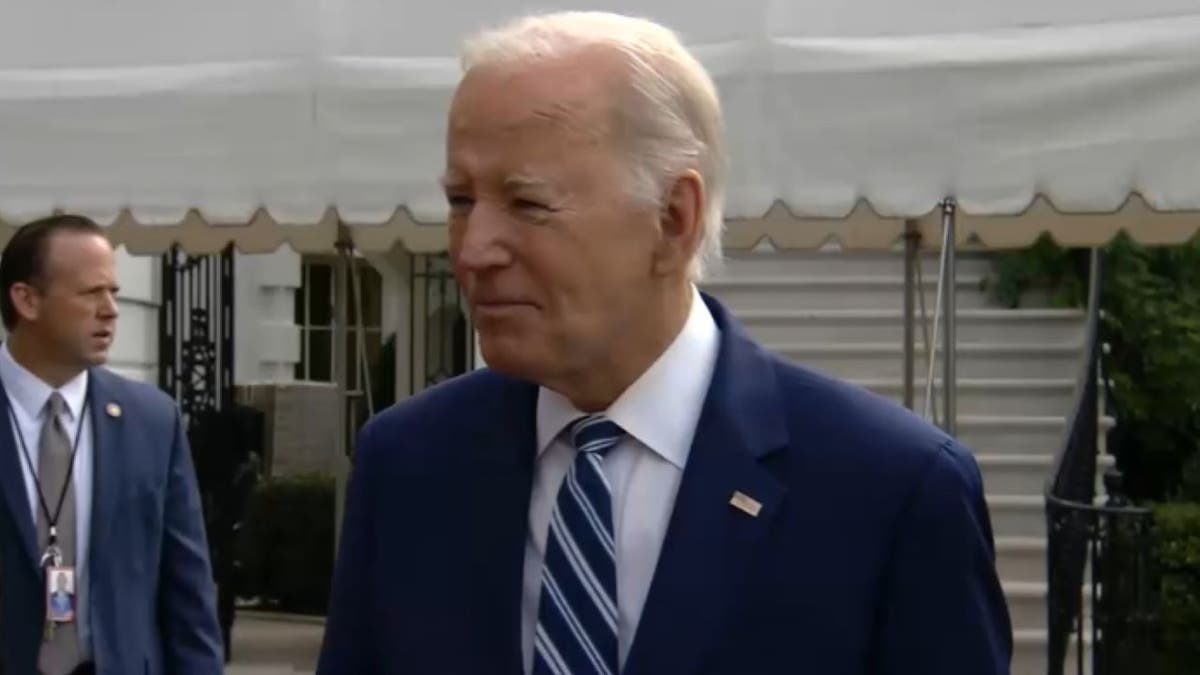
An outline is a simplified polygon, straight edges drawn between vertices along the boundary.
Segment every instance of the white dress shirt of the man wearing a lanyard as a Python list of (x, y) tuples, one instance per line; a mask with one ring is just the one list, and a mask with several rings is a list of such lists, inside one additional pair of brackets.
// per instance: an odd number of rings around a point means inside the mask
[[(37, 518), (42, 510), (37, 497), (37, 460), (41, 450), (38, 442), (42, 436), (42, 424), (46, 418), (46, 402), (55, 390), (49, 384), (40, 380), (32, 372), (25, 370), (12, 358), (8, 351), (8, 342), (0, 344), (0, 382), (4, 382), (5, 393), (8, 395), (8, 407), (16, 417), (17, 425), (10, 428), (14, 434), (19, 434), (25, 441), (25, 449), (29, 459), (17, 458), (22, 472), (25, 477), (25, 495), (29, 496), (29, 514), (37, 526)], [(91, 534), (91, 480), (92, 480), (92, 443), (91, 443), (91, 416), (83, 410), (84, 396), (88, 393), (88, 371), (80, 372), (73, 380), (58, 389), (62, 400), (66, 401), (66, 412), (62, 414), (62, 426), (67, 430), (71, 442), (76, 442), (76, 434), (83, 434), (79, 438), (76, 458), (74, 472), (71, 484), (74, 488), (76, 497), (76, 580), (80, 592), (79, 599), (86, 595), (88, 584), (88, 537)], [(83, 428), (79, 426), (79, 414), (84, 414)], [(17, 453), (22, 453), (20, 441), (13, 437)], [(30, 466), (32, 464), (32, 466)], [(58, 500), (58, 492), (47, 494), (47, 503), (53, 509)], [(42, 551), (37, 551), (41, 556)], [(79, 628), (80, 656), (84, 661), (91, 659), (91, 623), (89, 621), (89, 607), (86, 602), (79, 602), (76, 620)]]

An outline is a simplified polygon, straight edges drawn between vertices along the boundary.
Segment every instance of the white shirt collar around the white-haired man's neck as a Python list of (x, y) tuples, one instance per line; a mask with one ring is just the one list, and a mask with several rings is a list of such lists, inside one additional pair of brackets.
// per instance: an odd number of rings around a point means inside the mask
[[(691, 452), (719, 347), (716, 322), (700, 291), (692, 287), (691, 310), (679, 335), (605, 414), (630, 436), (683, 468)], [(539, 456), (582, 414), (565, 396), (541, 387), (536, 417)]]

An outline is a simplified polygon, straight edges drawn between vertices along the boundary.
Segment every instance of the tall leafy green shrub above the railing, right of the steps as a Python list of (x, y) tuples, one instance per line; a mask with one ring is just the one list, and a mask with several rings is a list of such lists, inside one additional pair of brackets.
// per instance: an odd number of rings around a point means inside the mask
[[(1086, 251), (1049, 238), (1001, 256), (988, 281), (1016, 306), (1026, 291), (1049, 291), (1055, 304), (1086, 303)], [(1112, 382), (1109, 436), (1135, 501), (1198, 500), (1200, 494), (1200, 239), (1147, 247), (1121, 235), (1104, 247), (1102, 338)]]

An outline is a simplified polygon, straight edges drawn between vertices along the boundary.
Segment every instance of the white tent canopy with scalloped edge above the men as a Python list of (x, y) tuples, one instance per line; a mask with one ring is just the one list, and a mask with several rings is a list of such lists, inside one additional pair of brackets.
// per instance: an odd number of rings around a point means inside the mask
[[(6, 0), (0, 222), (55, 209), (131, 250), (445, 246), (460, 40), (523, 2)], [(560, 8), (582, 6), (560, 2)], [(544, 7), (544, 6), (542, 6)], [(727, 241), (1148, 243), (1200, 227), (1195, 0), (587, 5), (677, 29), (721, 92)]]

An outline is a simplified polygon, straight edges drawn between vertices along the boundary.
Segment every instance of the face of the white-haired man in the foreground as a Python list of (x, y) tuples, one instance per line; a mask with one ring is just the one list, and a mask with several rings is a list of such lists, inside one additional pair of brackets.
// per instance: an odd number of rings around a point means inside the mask
[(650, 301), (658, 209), (629, 198), (611, 56), (486, 66), (450, 110), (450, 253), (491, 368), (602, 363)]

